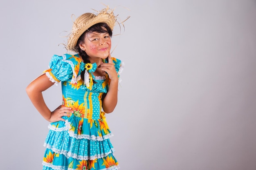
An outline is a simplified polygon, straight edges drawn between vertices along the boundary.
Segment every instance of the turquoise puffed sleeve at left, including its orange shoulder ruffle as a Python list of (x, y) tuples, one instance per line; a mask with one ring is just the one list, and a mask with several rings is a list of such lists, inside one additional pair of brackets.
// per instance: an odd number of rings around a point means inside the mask
[(65, 54), (63, 56), (54, 55), (49, 62), (49, 69), (44, 73), (49, 79), (58, 85), (59, 82), (71, 80), (71, 83), (81, 79), (79, 74), (80, 59), (75, 55)]

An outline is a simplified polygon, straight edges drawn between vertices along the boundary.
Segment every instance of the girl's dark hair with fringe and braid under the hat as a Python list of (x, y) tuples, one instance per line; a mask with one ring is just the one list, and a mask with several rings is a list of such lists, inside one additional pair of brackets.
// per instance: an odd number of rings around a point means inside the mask
[[(105, 28), (105, 29), (104, 29)], [(93, 26), (91, 26), (90, 28), (88, 28), (85, 32), (83, 32), (83, 34), (79, 37), (79, 39), (77, 40), (77, 43), (76, 43), (76, 50), (79, 52), (79, 54), (81, 55), (81, 57), (83, 58), (83, 62), (84, 63), (90, 63), (90, 60), (88, 58), (88, 55), (85, 53), (85, 51), (81, 50), (80, 49), (80, 46), (79, 44), (81, 42), (84, 41), (84, 38), (85, 38), (85, 34), (86, 33), (92, 33), (92, 32), (97, 32), (97, 33), (108, 33), (110, 38), (112, 37), (112, 30), (110, 29), (110, 27), (108, 26), (108, 24), (106, 23), (98, 23), (98, 24), (94, 24)], [(81, 73), (81, 78), (82, 80), (84, 81), (84, 71), (82, 71)]]

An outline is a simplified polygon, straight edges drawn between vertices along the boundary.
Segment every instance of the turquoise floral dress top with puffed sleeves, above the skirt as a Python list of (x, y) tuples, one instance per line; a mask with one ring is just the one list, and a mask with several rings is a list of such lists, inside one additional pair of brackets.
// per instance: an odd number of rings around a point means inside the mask
[[(112, 59), (119, 77), (121, 61)], [(90, 64), (90, 69), (87, 70), (86, 66), (78, 54), (54, 55), (45, 73), (52, 82), (56, 84), (61, 82), (63, 106), (71, 107), (74, 116), (99, 119), (102, 111), (101, 97), (108, 91), (108, 76), (93, 75), (97, 67), (96, 63)], [(81, 79), (81, 72), (84, 70), (85, 82)], [(88, 79), (87, 83), (86, 79)]]

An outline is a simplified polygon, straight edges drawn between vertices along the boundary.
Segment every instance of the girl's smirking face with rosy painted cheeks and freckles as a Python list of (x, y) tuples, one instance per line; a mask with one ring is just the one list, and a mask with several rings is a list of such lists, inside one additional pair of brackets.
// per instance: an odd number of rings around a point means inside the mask
[(89, 60), (105, 59), (111, 49), (111, 38), (108, 33), (86, 33), (84, 43), (80, 47), (85, 49)]

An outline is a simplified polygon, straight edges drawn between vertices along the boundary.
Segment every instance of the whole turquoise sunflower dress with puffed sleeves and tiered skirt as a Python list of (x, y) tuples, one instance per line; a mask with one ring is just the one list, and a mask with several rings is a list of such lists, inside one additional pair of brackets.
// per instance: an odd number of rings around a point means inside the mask
[[(121, 61), (112, 58), (116, 71), (121, 73)], [(106, 62), (106, 60), (103, 60)], [(63, 104), (74, 113), (49, 124), (45, 139), (43, 170), (117, 170), (113, 156), (101, 97), (107, 93), (108, 76), (94, 76), (97, 64), (81, 62), (79, 55), (54, 55), (44, 73), (52, 82), (61, 82)], [(81, 72), (85, 70), (85, 81)]]

